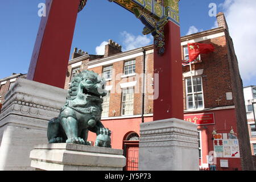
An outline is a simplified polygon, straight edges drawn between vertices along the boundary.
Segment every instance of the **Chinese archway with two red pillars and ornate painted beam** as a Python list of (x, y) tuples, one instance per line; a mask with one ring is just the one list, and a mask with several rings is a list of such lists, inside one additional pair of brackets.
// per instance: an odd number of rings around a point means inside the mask
[[(105, 0), (106, 1), (106, 0)], [(179, 0), (108, 0), (129, 10), (145, 25), (143, 34), (154, 36), (154, 73), (158, 98), (154, 121), (183, 119)], [(87, 0), (46, 0), (27, 78), (64, 88), (77, 13)]]

